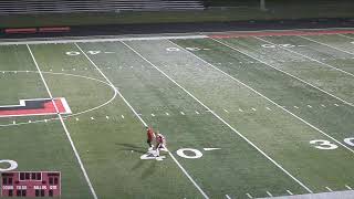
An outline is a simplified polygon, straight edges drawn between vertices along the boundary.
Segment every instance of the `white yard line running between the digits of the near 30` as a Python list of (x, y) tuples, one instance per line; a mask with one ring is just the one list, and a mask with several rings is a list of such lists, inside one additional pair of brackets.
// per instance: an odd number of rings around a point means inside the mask
[[(171, 41), (170, 41), (171, 42)], [(179, 49), (183, 49), (181, 46), (177, 45), (176, 43), (171, 42), (173, 44), (175, 44), (176, 46), (178, 46)], [(191, 55), (194, 55), (196, 59), (202, 61), (204, 63), (208, 64), (209, 66), (211, 66), (212, 69), (219, 71), (220, 73), (225, 74), (226, 76), (232, 78), (233, 81), (242, 84), (244, 87), (251, 90), (252, 92), (254, 92), (256, 94), (258, 94), (259, 96), (266, 98), (268, 102), (274, 104), (275, 106), (280, 107), (281, 109), (283, 109), (284, 112), (289, 113), (290, 115), (292, 115), (293, 117), (298, 118), (299, 121), (303, 122), (304, 124), (309, 125), (310, 127), (312, 127), (313, 129), (317, 130), (319, 133), (321, 133), (322, 135), (326, 136), (327, 138), (332, 139), (333, 142), (337, 143), (339, 145), (343, 146), (344, 148), (348, 149), (350, 151), (354, 153), (354, 150), (350, 147), (347, 147), (346, 145), (344, 145), (343, 143), (336, 140), (334, 137), (330, 136), (329, 134), (324, 133), (323, 130), (321, 130), (320, 128), (315, 127), (314, 125), (312, 125), (311, 123), (306, 122), (305, 119), (299, 117), (298, 115), (293, 114), (292, 112), (290, 112), (289, 109), (287, 109), (285, 107), (279, 105), (278, 103), (275, 103), (274, 101), (268, 98), (266, 95), (261, 94), (260, 92), (256, 91), (254, 88), (250, 87), (249, 85), (244, 84), (243, 82), (239, 81), (238, 78), (231, 76), (230, 74), (223, 72), (222, 70), (218, 69), (217, 66), (210, 64), (209, 62), (202, 60), (201, 57), (197, 56), (196, 54), (185, 50), (186, 52), (190, 53)], [(243, 53), (244, 54), (244, 53)], [(247, 55), (247, 54), (246, 54)], [(252, 57), (252, 56), (250, 56)]]

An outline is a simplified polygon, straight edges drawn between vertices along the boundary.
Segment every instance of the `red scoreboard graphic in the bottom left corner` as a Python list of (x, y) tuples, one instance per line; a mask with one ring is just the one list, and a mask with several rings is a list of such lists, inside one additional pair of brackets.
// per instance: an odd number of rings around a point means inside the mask
[(60, 197), (60, 171), (1, 172), (1, 197)]

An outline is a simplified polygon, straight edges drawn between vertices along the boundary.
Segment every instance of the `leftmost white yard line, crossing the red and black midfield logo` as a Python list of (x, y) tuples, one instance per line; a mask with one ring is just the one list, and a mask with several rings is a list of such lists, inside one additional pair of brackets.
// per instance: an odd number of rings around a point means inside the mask
[(92, 184), (91, 184), (91, 180), (90, 180), (90, 178), (88, 178), (88, 175), (87, 175), (87, 172), (86, 172), (86, 169), (85, 169), (85, 167), (84, 167), (84, 165), (83, 165), (83, 163), (82, 163), (82, 160), (81, 160), (81, 158), (80, 158), (80, 155), (79, 155), (79, 153), (77, 153), (77, 150), (76, 150), (76, 147), (75, 147), (75, 145), (74, 145), (72, 138), (71, 138), (71, 135), (70, 135), (70, 133), (69, 133), (69, 130), (67, 130), (67, 128), (66, 128), (66, 125), (65, 125), (65, 123), (64, 123), (64, 119), (63, 119), (62, 115), (60, 114), (60, 112), (59, 112), (59, 109), (58, 109), (58, 107), (56, 107), (56, 104), (55, 104), (55, 102), (54, 102), (53, 95), (52, 95), (51, 91), (49, 90), (49, 87), (48, 87), (48, 85), (46, 85), (46, 82), (45, 82), (45, 80), (44, 80), (44, 76), (43, 76), (43, 74), (42, 74), (42, 71), (40, 70), (40, 67), (39, 67), (39, 65), (38, 65), (38, 63), (37, 63), (37, 61), (35, 61), (35, 57), (34, 57), (34, 55), (33, 55), (33, 53), (32, 53), (32, 51), (31, 51), (31, 49), (30, 49), (30, 46), (29, 46), (28, 44), (27, 44), (27, 48), (28, 48), (28, 50), (29, 50), (29, 52), (30, 52), (30, 54), (31, 54), (31, 56), (32, 56), (32, 60), (33, 60), (33, 62), (34, 62), (34, 64), (35, 64), (35, 66), (37, 66), (37, 70), (38, 70), (38, 72), (39, 72), (39, 74), (40, 74), (40, 76), (41, 76), (41, 78), (42, 78), (42, 82), (43, 82), (43, 84), (44, 84), (44, 86), (45, 86), (45, 90), (46, 90), (49, 96), (50, 96), (51, 100), (52, 100), (52, 103), (53, 103), (53, 105), (54, 105), (54, 107), (55, 107), (58, 117), (59, 117), (59, 119), (60, 119), (60, 122), (61, 122), (61, 124), (62, 124), (62, 126), (63, 126), (63, 128), (64, 128), (64, 130), (65, 130), (66, 137), (67, 137), (67, 139), (69, 139), (69, 142), (70, 142), (70, 144), (71, 144), (71, 147), (72, 147), (75, 156), (76, 156), (76, 159), (77, 159), (77, 161), (79, 161), (79, 164), (80, 164), (80, 168), (81, 168), (82, 172), (84, 174), (84, 177), (85, 177), (85, 179), (86, 179), (86, 182), (88, 184), (91, 193), (92, 193), (92, 196), (93, 196), (94, 199), (97, 199), (97, 195), (96, 195), (96, 192), (95, 192), (95, 190), (94, 190), (94, 188), (93, 188), (93, 186), (92, 186)]

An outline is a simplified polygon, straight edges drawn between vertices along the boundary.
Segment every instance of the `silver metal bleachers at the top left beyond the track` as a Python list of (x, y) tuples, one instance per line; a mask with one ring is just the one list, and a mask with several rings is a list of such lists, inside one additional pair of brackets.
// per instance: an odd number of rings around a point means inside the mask
[(0, 14), (204, 10), (200, 0), (1, 0)]

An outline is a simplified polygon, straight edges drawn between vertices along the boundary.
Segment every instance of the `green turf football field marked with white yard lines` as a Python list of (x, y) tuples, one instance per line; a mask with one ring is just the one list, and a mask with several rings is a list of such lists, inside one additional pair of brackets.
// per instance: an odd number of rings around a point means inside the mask
[[(354, 34), (6, 44), (0, 82), (1, 106), (67, 101), (0, 117), (0, 160), (61, 171), (65, 199), (354, 188)], [(144, 125), (165, 159), (140, 159)]]

